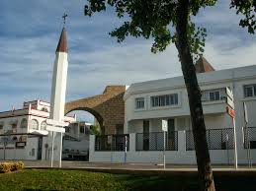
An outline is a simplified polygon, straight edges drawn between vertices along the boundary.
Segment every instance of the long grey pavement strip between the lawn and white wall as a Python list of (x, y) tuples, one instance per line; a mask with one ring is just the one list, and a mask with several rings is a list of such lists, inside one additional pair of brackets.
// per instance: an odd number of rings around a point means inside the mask
[[(25, 160), (26, 168), (50, 168), (49, 161), (30, 161)], [(58, 168), (58, 162), (53, 164), (54, 168)], [(166, 164), (163, 169), (162, 165), (152, 163), (107, 163), (107, 162), (86, 162), (86, 161), (62, 161), (62, 169), (84, 169), (90, 171), (101, 171), (111, 173), (164, 173), (164, 174), (180, 174), (180, 173), (197, 173), (196, 165), (173, 165)], [(234, 169), (232, 165), (213, 165), (214, 173), (221, 174), (251, 174), (256, 176), (256, 167), (249, 168), (247, 166), (238, 166)]]

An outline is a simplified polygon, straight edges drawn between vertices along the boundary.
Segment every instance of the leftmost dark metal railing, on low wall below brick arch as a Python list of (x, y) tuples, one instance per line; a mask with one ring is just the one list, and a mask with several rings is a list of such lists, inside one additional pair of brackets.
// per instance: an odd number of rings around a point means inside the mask
[(126, 140), (129, 149), (128, 134), (95, 136), (95, 151), (126, 151)]

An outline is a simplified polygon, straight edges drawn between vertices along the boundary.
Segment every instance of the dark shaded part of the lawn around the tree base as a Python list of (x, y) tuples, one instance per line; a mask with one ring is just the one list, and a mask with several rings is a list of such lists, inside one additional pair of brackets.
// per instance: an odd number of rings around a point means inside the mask
[[(256, 176), (213, 174), (215, 189), (220, 191), (255, 191)], [(139, 191), (198, 191), (198, 176), (195, 175), (127, 175), (116, 178), (124, 182), (128, 190)]]

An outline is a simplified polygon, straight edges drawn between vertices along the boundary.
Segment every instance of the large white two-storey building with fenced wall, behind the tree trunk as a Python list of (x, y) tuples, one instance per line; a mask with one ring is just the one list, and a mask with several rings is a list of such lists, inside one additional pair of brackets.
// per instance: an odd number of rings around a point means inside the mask
[[(234, 126), (229, 115), (233, 107), (238, 164), (247, 163), (248, 159), (255, 163), (256, 65), (214, 71), (201, 56), (195, 67), (202, 90), (212, 162), (234, 162)], [(168, 121), (166, 162), (196, 163), (188, 94), (182, 76), (131, 84), (124, 100), (124, 132), (127, 135), (123, 137), (128, 139), (127, 154), (125, 138), (118, 141), (115, 136), (108, 137), (103, 144), (100, 138), (91, 136), (90, 161), (162, 163), (162, 120), (165, 119)], [(243, 102), (247, 105), (247, 129), (244, 128)], [(123, 144), (123, 149), (119, 151), (117, 145), (120, 144)], [(250, 150), (246, 149), (247, 144), (250, 144)]]

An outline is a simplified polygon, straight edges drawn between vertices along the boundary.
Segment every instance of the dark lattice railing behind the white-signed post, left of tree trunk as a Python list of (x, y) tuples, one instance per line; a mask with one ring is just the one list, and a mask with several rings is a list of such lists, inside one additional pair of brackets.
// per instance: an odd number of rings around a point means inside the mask
[[(178, 132), (165, 132), (165, 150), (178, 151)], [(136, 151), (163, 151), (164, 132), (136, 133)]]

